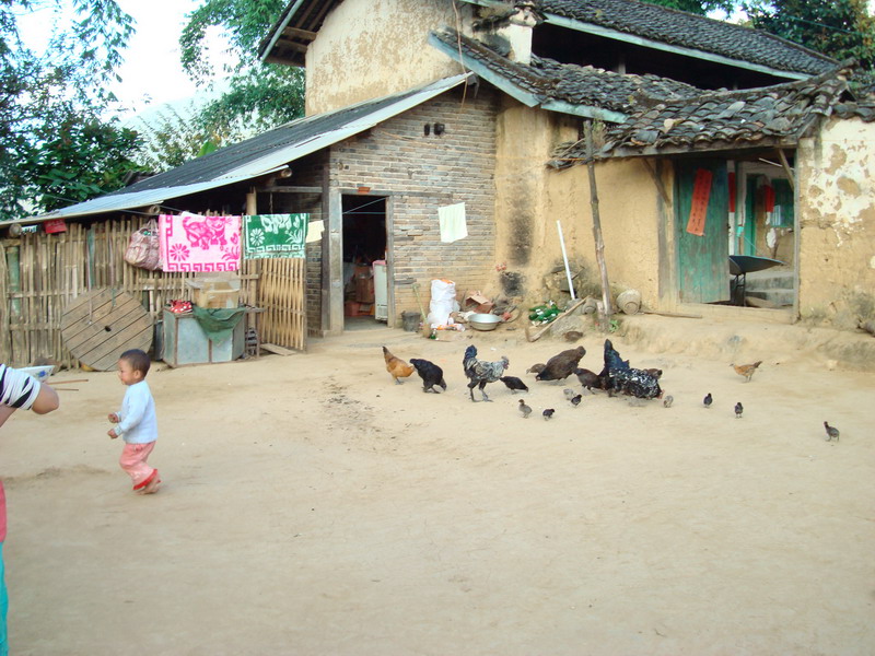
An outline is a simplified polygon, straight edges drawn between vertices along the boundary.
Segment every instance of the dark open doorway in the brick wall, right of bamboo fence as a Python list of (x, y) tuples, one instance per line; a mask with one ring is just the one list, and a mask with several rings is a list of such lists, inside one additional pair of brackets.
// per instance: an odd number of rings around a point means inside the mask
[(388, 317), (386, 197), (343, 195), (343, 328)]

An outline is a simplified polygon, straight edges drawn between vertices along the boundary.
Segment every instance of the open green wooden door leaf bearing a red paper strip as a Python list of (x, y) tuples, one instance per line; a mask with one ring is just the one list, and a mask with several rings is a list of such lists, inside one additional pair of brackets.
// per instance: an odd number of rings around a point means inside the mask
[[(687, 232), (692, 208), (696, 172), (711, 172), (704, 234)], [(728, 174), (726, 162), (701, 160), (676, 163), (675, 235), (677, 239), (678, 295), (684, 303), (730, 300)]]

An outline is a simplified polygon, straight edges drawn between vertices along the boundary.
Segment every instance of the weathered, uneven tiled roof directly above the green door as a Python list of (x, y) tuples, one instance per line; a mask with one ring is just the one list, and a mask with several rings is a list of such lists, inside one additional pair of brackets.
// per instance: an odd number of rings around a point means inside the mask
[[(597, 159), (693, 150), (794, 144), (820, 117), (837, 114), (875, 120), (875, 105), (849, 103), (848, 69), (796, 82), (735, 92), (713, 92), (682, 101), (652, 98), (621, 125), (607, 129)], [(551, 165), (585, 161), (582, 143), (560, 145)]]

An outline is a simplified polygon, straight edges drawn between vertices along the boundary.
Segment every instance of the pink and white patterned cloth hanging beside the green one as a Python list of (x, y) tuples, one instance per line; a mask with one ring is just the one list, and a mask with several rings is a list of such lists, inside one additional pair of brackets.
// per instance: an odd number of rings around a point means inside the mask
[(240, 216), (162, 214), (159, 233), (164, 271), (240, 269)]

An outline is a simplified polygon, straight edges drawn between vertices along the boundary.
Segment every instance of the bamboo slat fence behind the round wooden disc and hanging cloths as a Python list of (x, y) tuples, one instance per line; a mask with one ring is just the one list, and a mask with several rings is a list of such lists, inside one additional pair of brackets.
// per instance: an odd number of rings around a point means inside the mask
[[(60, 321), (67, 304), (90, 290), (112, 288), (126, 292), (142, 303), (153, 320), (161, 318), (167, 301), (190, 298), (191, 290), (185, 281), (196, 273), (148, 271), (125, 262), (131, 233), (145, 222), (144, 218), (127, 216), (90, 226), (68, 223), (63, 233), (38, 231), (0, 241), (0, 362), (26, 366), (50, 359), (61, 366), (75, 366), (75, 359), (61, 342)], [(244, 260), (240, 271), (241, 302), (257, 305), (261, 270), (272, 271), (276, 267), (278, 273), (271, 277), (269, 292), (264, 296), (271, 303), (272, 314), (270, 308), (266, 311), (271, 318), (265, 317), (261, 330), (282, 338), (271, 338), (275, 343), (303, 348), (303, 341), (300, 347), (293, 345), (294, 340), (290, 339), (294, 336), (289, 330), (271, 326), (289, 316), (295, 317), (298, 326), (303, 320), (298, 318), (299, 313), (304, 314), (303, 274), (296, 281), (287, 280), (283, 265), (273, 265), (278, 261), (282, 260)], [(303, 267), (304, 262), (290, 261), (295, 262), (292, 267)], [(298, 305), (292, 293), (300, 294)], [(284, 311), (281, 303), (289, 304)], [(298, 332), (304, 335), (303, 329)]]

